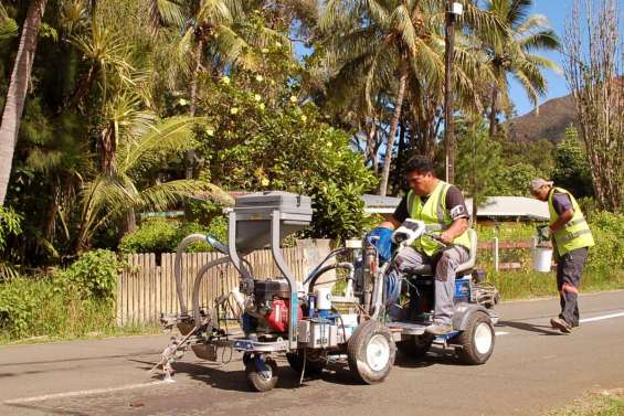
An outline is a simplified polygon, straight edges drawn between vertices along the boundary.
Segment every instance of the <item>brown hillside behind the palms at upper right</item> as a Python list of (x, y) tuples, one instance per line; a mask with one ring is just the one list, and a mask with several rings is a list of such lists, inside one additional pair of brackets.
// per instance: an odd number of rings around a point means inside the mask
[(507, 128), (511, 141), (560, 141), (571, 124), (577, 124), (577, 114), (574, 100), (568, 95), (546, 102), (539, 107), (538, 115), (530, 111), (508, 121)]

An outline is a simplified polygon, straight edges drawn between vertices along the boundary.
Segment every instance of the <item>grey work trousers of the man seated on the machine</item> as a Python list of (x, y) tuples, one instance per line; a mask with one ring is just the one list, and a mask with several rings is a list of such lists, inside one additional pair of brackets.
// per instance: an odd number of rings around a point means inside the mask
[(395, 259), (395, 270), (404, 277), (422, 265), (432, 265), (435, 270), (434, 322), (451, 324), (455, 311), (455, 275), (457, 267), (467, 262), (468, 250), (463, 246), (450, 246), (429, 257), (412, 247), (404, 248)]

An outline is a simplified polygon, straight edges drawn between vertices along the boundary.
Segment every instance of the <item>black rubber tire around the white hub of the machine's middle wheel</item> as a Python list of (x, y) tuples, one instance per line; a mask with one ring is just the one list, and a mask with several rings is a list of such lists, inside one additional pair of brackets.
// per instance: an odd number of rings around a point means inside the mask
[[(378, 371), (371, 369), (366, 360), (367, 345), (374, 335), (385, 338), (390, 348), (388, 363)], [(356, 378), (366, 384), (377, 384), (385, 380), (394, 365), (395, 356), (396, 345), (392, 339), (392, 333), (385, 326), (374, 320), (366, 321), (356, 328), (347, 343), (349, 369)]]

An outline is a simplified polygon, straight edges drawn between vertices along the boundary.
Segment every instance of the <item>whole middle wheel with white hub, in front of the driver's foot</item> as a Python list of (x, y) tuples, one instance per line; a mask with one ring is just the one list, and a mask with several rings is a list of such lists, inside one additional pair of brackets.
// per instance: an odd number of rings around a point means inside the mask
[(367, 384), (381, 383), (390, 374), (395, 355), (396, 345), (392, 333), (374, 320), (356, 328), (347, 343), (349, 369)]

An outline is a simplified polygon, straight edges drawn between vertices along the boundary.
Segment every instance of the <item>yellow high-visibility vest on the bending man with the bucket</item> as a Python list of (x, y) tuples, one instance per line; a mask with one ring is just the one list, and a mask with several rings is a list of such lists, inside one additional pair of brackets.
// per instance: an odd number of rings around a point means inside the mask
[(548, 194), (548, 210), (550, 211), (550, 223), (559, 218), (559, 214), (554, 211), (554, 205), (552, 204), (552, 195), (554, 193), (565, 193), (570, 196), (570, 201), (572, 202), (572, 209), (574, 210), (574, 216), (563, 224), (563, 227), (552, 232), (552, 236), (554, 237), (554, 243), (557, 244), (557, 250), (559, 252), (560, 256), (563, 256), (565, 253), (571, 252), (577, 248), (581, 247), (592, 247), (594, 245), (594, 238), (592, 236), (592, 232), (583, 213), (581, 212), (581, 207), (579, 203), (572, 196), (572, 194), (565, 191), (562, 188), (553, 188), (550, 190)]

